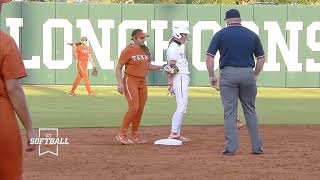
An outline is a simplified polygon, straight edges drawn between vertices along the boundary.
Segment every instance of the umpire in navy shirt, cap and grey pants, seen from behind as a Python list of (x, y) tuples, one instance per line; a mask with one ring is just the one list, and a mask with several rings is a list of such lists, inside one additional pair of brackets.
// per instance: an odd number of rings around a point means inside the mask
[[(224, 155), (233, 155), (239, 147), (236, 125), (238, 98), (240, 99), (252, 144), (253, 154), (262, 154), (262, 143), (255, 110), (257, 76), (265, 62), (259, 37), (241, 25), (236, 9), (226, 12), (227, 27), (215, 34), (207, 51), (210, 84), (217, 83), (214, 75), (214, 56), (220, 52), (220, 91), (224, 108), (226, 144)], [(255, 66), (254, 57), (257, 59)], [(255, 69), (253, 70), (253, 68)]]

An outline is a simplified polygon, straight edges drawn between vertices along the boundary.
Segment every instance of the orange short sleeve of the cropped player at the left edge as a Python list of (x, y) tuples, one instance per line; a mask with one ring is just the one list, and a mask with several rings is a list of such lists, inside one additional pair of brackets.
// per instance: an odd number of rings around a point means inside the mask
[(1, 73), (5, 80), (19, 79), (27, 76), (21, 54), (13, 39), (10, 39), (4, 50)]

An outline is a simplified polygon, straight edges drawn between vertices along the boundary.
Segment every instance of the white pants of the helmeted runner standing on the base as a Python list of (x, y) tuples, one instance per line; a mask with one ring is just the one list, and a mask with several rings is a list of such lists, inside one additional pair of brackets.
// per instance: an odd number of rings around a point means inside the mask
[(172, 117), (171, 132), (180, 134), (183, 114), (186, 113), (190, 76), (187, 74), (176, 74), (173, 77), (173, 92), (176, 96), (177, 109)]

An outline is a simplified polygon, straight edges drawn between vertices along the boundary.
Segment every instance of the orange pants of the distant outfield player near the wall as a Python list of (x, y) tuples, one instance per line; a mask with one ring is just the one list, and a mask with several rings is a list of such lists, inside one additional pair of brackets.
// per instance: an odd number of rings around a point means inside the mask
[(88, 93), (92, 93), (92, 90), (90, 88), (87, 66), (82, 65), (81, 62), (79, 61), (77, 64), (77, 69), (78, 69), (78, 75), (77, 75), (77, 78), (74, 80), (71, 92), (73, 93), (77, 89), (81, 79), (83, 78), (84, 85), (86, 86)]

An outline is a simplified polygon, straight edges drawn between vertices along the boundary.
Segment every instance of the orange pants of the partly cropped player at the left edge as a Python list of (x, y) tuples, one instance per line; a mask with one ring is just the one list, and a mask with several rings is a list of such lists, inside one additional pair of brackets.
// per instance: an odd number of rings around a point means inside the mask
[(22, 142), (10, 103), (0, 102), (0, 179), (22, 179)]

